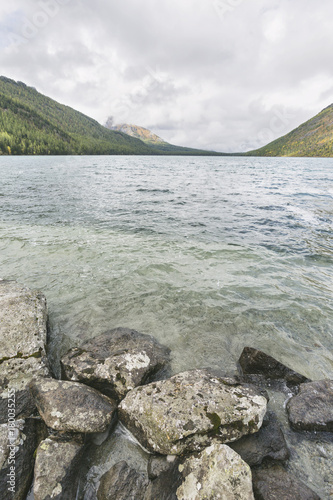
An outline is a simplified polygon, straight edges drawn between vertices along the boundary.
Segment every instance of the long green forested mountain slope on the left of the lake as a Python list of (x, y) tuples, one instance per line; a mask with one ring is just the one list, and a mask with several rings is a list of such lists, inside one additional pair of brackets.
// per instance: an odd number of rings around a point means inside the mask
[(0, 76), (0, 155), (218, 155), (148, 144), (108, 130), (25, 83)]

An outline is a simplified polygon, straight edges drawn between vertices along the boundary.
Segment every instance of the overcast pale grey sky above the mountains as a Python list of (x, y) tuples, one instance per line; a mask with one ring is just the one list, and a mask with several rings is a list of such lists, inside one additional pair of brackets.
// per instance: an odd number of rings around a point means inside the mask
[(0, 74), (176, 145), (263, 146), (333, 102), (332, 0), (11, 0)]

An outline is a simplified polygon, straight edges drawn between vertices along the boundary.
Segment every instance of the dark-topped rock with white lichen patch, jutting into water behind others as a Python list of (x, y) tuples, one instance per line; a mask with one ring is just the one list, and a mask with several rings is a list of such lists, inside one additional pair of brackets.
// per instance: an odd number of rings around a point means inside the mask
[(62, 378), (83, 382), (121, 400), (169, 363), (170, 350), (153, 337), (115, 328), (71, 349), (61, 360)]

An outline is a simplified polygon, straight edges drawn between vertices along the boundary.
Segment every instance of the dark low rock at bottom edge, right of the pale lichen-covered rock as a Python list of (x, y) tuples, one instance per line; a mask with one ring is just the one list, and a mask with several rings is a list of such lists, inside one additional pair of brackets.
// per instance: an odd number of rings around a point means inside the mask
[(320, 500), (320, 497), (280, 466), (252, 471), (256, 500)]

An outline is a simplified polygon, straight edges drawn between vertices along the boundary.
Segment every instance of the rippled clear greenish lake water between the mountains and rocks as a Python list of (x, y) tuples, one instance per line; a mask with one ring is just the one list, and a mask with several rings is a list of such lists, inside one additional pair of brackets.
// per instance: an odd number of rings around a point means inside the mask
[(171, 348), (174, 373), (234, 372), (247, 345), (333, 378), (332, 159), (2, 157), (0, 172), (0, 277), (45, 293), (55, 366), (128, 326)]

